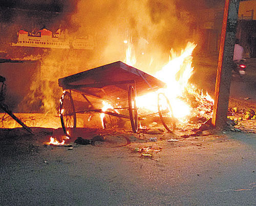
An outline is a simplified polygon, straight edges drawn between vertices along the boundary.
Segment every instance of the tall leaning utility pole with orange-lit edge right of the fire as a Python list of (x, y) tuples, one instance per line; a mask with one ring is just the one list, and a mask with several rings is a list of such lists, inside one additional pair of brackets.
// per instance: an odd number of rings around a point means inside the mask
[(219, 62), (215, 84), (214, 112), (211, 120), (211, 123), (219, 129), (224, 128), (227, 121), (227, 109), (233, 65), (232, 60), (234, 41), (237, 32), (239, 2), (240, 0), (225, 1)]

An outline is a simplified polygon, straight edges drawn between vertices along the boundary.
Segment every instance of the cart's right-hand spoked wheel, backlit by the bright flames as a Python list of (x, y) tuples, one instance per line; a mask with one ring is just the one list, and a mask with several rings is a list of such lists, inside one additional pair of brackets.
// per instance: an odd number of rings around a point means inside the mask
[(172, 107), (170, 107), (170, 102), (163, 93), (158, 94), (158, 113), (166, 130), (169, 132), (174, 131), (176, 120), (173, 115)]

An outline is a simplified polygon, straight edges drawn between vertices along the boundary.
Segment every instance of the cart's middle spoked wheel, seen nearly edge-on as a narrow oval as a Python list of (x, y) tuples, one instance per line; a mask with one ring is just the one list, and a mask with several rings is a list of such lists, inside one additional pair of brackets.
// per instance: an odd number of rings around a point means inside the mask
[(135, 89), (132, 86), (129, 86), (128, 90), (128, 104), (129, 104), (129, 116), (133, 128), (133, 132), (138, 132), (138, 110), (136, 107), (136, 94)]

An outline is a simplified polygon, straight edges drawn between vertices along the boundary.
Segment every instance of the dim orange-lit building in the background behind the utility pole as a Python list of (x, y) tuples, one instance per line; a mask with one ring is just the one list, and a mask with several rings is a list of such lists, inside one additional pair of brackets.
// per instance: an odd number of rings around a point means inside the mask
[[(198, 43), (199, 56), (219, 54), (224, 4), (197, 10), (194, 16), (186, 15), (184, 19), (189, 23), (190, 38)], [(238, 16), (237, 38), (245, 49), (245, 56), (256, 57), (256, 0), (241, 1)]]

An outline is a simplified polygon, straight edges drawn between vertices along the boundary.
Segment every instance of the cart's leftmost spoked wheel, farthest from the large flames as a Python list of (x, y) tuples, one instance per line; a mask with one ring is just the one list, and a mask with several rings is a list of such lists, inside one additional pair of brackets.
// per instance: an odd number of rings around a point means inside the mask
[(60, 121), (65, 135), (69, 136), (69, 128), (76, 127), (76, 112), (70, 92), (63, 92), (59, 105)]

